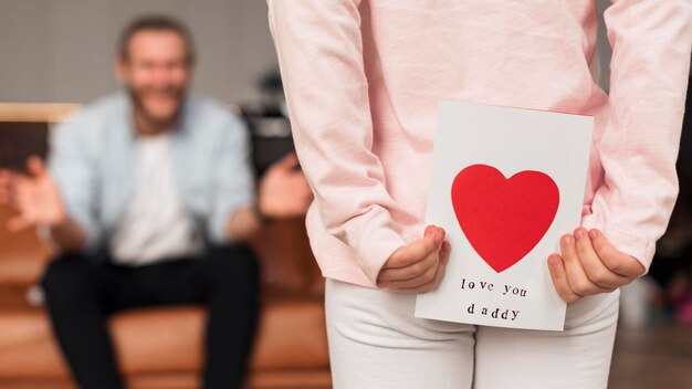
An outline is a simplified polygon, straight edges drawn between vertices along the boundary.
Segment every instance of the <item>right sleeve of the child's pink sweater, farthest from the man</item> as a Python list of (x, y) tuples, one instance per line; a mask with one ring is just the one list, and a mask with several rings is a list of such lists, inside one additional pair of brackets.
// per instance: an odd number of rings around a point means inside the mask
[(605, 183), (587, 228), (649, 269), (678, 196), (675, 159), (692, 46), (690, 0), (611, 0), (610, 116), (596, 147)]

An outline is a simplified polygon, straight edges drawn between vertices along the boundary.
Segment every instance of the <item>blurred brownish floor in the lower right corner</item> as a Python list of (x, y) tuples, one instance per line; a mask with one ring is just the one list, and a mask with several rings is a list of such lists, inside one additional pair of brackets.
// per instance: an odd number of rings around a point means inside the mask
[(692, 325), (620, 328), (609, 389), (692, 389)]

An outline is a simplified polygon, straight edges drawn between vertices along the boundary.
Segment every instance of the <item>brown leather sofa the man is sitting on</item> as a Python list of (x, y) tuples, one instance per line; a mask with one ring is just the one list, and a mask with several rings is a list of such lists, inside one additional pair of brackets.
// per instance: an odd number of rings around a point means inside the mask
[[(13, 123), (52, 122), (72, 109), (0, 104), (0, 143), (7, 146), (4, 130), (21, 127)], [(18, 147), (25, 146), (27, 141)], [(52, 250), (33, 230), (8, 233), (2, 225), (11, 213), (0, 207), (0, 389), (74, 388), (44, 309), (30, 303)], [(312, 257), (303, 220), (268, 225), (251, 246), (262, 263), (263, 308), (248, 387), (329, 388), (324, 280)], [(203, 320), (200, 306), (114, 315), (109, 326), (128, 386), (199, 387)]]

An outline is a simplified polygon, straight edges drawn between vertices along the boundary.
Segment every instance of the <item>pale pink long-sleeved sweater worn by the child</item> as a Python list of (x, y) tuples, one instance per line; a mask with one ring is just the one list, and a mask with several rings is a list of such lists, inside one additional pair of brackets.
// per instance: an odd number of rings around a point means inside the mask
[(422, 236), (440, 99), (594, 115), (581, 223), (649, 267), (678, 193), (692, 1), (612, 1), (610, 96), (595, 3), (269, 0), (325, 276), (375, 286)]

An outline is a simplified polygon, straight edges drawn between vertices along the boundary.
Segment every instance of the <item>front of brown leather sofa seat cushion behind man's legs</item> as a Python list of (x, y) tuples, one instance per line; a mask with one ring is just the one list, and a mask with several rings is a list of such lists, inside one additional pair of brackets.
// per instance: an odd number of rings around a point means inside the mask
[[(126, 374), (199, 371), (205, 311), (147, 308), (111, 319)], [(252, 370), (327, 369), (322, 302), (270, 303), (263, 309)], [(42, 309), (0, 312), (0, 378), (65, 377), (66, 368)]]

